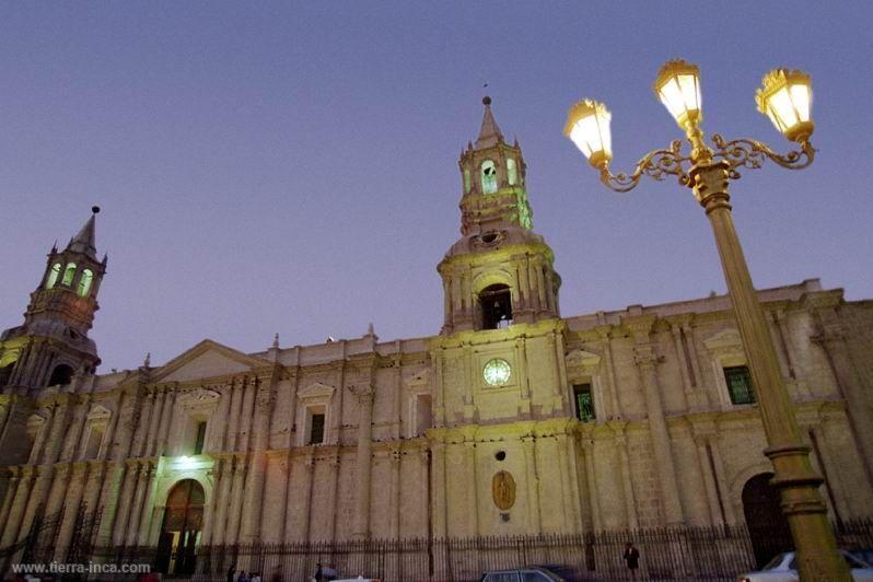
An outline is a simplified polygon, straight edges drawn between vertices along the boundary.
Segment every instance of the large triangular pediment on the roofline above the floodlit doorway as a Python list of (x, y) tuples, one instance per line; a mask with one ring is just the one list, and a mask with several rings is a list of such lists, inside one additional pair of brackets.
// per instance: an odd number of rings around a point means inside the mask
[(267, 360), (205, 339), (188, 351), (177, 356), (152, 375), (152, 382), (187, 382), (248, 372), (268, 364)]

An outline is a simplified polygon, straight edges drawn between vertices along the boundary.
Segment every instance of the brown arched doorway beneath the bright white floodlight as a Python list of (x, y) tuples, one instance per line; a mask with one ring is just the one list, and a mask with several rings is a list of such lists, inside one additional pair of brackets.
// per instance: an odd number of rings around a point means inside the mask
[(166, 496), (166, 512), (158, 542), (159, 572), (171, 575), (194, 573), (195, 548), (203, 525), (203, 488), (194, 479), (173, 486)]

